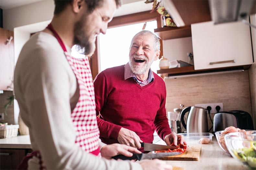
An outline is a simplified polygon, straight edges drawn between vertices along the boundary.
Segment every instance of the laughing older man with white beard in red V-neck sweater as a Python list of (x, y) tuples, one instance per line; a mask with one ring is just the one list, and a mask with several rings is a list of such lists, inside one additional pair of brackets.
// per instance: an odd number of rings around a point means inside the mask
[(140, 142), (153, 142), (156, 130), (167, 145), (186, 145), (184, 137), (169, 128), (165, 82), (150, 69), (159, 55), (159, 38), (150, 31), (141, 31), (132, 39), (129, 63), (97, 75), (96, 112), (104, 143), (141, 148)]

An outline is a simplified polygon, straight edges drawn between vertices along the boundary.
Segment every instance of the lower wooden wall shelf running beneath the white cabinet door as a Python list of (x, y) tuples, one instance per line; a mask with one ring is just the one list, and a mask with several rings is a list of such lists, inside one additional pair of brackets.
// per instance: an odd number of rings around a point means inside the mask
[(212, 68), (212, 69), (203, 69), (195, 70), (194, 66), (188, 67), (179, 67), (179, 68), (169, 68), (169, 69), (160, 69), (157, 70), (157, 74), (167, 73), (169, 76), (173, 75), (190, 75), (190, 74), (200, 74), (200, 73), (210, 73), (210, 72), (220, 72), (220, 71), (230, 71), (230, 70), (247, 70), (251, 65), (241, 65), (233, 67), (223, 67), (223, 68)]

